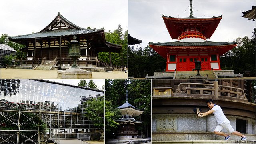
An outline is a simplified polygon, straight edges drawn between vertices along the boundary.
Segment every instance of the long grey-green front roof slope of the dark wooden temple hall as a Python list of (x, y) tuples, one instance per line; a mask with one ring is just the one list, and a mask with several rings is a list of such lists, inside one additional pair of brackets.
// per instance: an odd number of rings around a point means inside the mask
[(56, 36), (74, 36), (79, 34), (91, 34), (94, 32), (104, 31), (104, 28), (101, 29), (58, 29), (52, 30), (48, 32), (37, 32), (34, 34), (27, 34), (22, 36), (12, 36), (8, 37), (10, 40), (12, 39), (30, 39), (30, 38), (49, 38), (49, 37), (56, 37)]

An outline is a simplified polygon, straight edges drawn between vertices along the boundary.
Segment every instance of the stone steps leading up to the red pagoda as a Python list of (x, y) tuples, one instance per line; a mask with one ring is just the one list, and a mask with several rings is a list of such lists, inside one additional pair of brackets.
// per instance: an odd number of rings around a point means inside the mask
[[(177, 71), (175, 79), (190, 79), (190, 77), (196, 76), (196, 74), (197, 71)], [(206, 74), (208, 74), (209, 79), (216, 79), (214, 73), (211, 70), (200, 71), (201, 76), (206, 76)]]

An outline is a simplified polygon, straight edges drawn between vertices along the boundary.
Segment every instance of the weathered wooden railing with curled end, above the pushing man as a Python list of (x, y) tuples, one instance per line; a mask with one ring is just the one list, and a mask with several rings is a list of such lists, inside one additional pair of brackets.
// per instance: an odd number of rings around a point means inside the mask
[[(195, 86), (195, 87), (192, 87), (192, 86)], [(203, 86), (204, 88), (198, 88), (196, 86)], [(199, 94), (209, 94), (209, 95), (215, 96), (216, 98), (218, 96), (222, 96), (222, 93), (224, 93), (225, 94), (224, 96), (231, 97), (232, 95), (234, 95), (236, 98), (242, 98), (247, 100), (243, 89), (232, 87), (232, 86), (218, 85), (218, 81), (214, 81), (214, 84), (201, 84), (201, 83), (189, 83), (189, 82), (180, 83), (178, 85), (177, 90), (175, 90), (174, 93), (198, 94), (198, 92), (196, 91), (199, 91)]]

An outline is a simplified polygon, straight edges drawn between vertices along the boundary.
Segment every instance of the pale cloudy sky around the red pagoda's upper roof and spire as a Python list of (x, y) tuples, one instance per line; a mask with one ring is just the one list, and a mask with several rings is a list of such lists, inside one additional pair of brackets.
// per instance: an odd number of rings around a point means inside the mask
[[(128, 33), (142, 40), (139, 47), (146, 47), (148, 42), (171, 42), (162, 15), (172, 17), (189, 17), (189, 1), (128, 1)], [(255, 1), (245, 0), (194, 0), (193, 16), (209, 18), (222, 15), (210, 41), (232, 42), (238, 37), (252, 35), (255, 23), (242, 18), (242, 12), (255, 6)]]

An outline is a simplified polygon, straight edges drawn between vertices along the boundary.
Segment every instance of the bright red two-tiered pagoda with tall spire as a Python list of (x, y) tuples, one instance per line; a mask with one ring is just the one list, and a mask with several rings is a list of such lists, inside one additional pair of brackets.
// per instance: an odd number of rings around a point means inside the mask
[(195, 18), (190, 0), (190, 16), (174, 18), (162, 16), (166, 28), (176, 42), (153, 43), (149, 45), (166, 58), (166, 71), (192, 71), (197, 58), (202, 62), (201, 70), (221, 70), (220, 56), (236, 46), (236, 42), (207, 41), (216, 30), (222, 16)]

